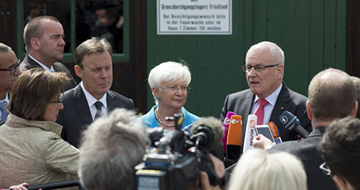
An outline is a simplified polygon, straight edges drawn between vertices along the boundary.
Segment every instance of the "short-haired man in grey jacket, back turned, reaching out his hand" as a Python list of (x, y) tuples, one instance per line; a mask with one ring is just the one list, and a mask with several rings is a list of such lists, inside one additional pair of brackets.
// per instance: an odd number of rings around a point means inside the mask
[(330, 176), (321, 172), (319, 166), (324, 160), (317, 146), (327, 126), (338, 118), (351, 116), (357, 111), (356, 87), (350, 76), (340, 70), (329, 68), (321, 71), (309, 84), (309, 100), (306, 102), (307, 114), (311, 119), (313, 131), (303, 140), (273, 144), (259, 135), (254, 140), (256, 148), (269, 149), (269, 152), (284, 151), (297, 156), (303, 163), (309, 190), (336, 190)]

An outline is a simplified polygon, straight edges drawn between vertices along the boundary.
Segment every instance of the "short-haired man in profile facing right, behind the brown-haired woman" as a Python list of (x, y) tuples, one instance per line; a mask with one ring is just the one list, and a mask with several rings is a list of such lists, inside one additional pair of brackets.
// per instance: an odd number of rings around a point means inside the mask
[(49, 72), (64, 72), (71, 79), (65, 90), (72, 89), (76, 82), (69, 69), (58, 61), (63, 59), (64, 30), (59, 20), (53, 16), (38, 16), (30, 20), (24, 28), (26, 56), (20, 63), (22, 72), (31, 68), (44, 68)]

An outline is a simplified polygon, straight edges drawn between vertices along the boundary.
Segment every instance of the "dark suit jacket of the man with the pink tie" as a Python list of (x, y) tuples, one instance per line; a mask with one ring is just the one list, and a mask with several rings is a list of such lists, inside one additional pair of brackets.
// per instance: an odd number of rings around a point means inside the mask
[[(250, 89), (229, 94), (225, 98), (224, 107), (221, 111), (220, 120), (222, 122), (224, 121), (224, 118), (226, 117), (228, 111), (232, 111), (237, 115), (242, 116), (243, 139), (245, 135), (247, 117), (249, 114), (251, 114), (251, 106), (254, 99), (255, 94), (253, 94)], [(283, 84), (269, 120), (270, 122), (274, 122), (276, 124), (276, 127), (278, 127), (279, 136), (281, 137), (282, 141), (291, 141), (298, 139), (298, 134), (295, 131), (291, 132), (283, 125), (280, 125), (279, 116), (285, 110), (290, 111), (292, 114), (296, 115), (297, 118), (300, 120), (300, 124), (302, 125), (302, 127), (304, 127), (308, 132), (311, 132), (312, 126), (311, 121), (307, 117), (306, 113), (306, 101), (307, 98), (305, 96), (288, 89), (285, 84)]]

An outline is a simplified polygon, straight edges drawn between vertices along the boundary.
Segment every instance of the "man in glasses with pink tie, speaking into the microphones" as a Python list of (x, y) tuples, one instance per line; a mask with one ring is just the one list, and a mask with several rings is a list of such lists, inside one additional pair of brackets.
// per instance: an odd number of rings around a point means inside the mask
[[(301, 125), (311, 131), (311, 122), (307, 118), (305, 107), (307, 98), (288, 89), (282, 82), (284, 60), (284, 52), (272, 42), (260, 42), (248, 50), (243, 71), (246, 72), (249, 89), (227, 95), (220, 115), (221, 121), (224, 121), (228, 111), (242, 116), (243, 139), (250, 135), (249, 129), (246, 129), (249, 114), (257, 115), (257, 125), (274, 122), (282, 141), (298, 139), (296, 132), (280, 127), (279, 116), (285, 110), (296, 115)], [(265, 102), (262, 114), (257, 113), (259, 102)], [(252, 142), (243, 142), (244, 151), (246, 148), (253, 148), (249, 143)]]

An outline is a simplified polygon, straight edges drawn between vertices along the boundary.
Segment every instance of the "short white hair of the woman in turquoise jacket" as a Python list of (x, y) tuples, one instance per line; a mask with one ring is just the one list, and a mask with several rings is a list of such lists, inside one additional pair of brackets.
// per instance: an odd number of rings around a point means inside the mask
[[(191, 74), (185, 61), (181, 61), (181, 63), (173, 61), (160, 63), (150, 71), (148, 77), (150, 88), (159, 88), (162, 82), (175, 82), (178, 80), (186, 82), (186, 85), (190, 84)], [(155, 96), (154, 99), (157, 103)]]

